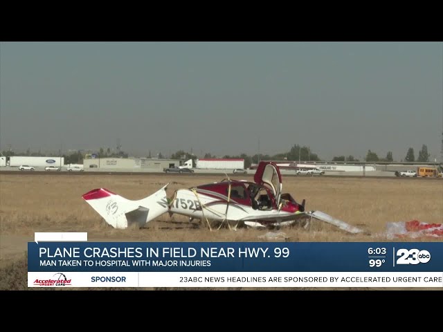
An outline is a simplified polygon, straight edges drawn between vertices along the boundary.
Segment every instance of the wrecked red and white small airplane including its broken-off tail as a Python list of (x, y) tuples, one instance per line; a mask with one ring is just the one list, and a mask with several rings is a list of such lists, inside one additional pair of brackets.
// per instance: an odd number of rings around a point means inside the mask
[[(169, 184), (169, 183), (168, 183)], [(114, 228), (136, 224), (143, 227), (162, 214), (181, 214), (206, 221), (208, 228), (225, 225), (239, 227), (278, 228), (318, 219), (350, 233), (363, 230), (320, 211), (305, 211), (305, 200), (297, 203), (291, 194), (282, 193), (282, 176), (275, 163), (262, 161), (254, 182), (230, 178), (215, 183), (179, 189), (171, 197), (168, 184), (154, 194), (138, 201), (125, 199), (105, 188), (87, 192), (82, 197)]]

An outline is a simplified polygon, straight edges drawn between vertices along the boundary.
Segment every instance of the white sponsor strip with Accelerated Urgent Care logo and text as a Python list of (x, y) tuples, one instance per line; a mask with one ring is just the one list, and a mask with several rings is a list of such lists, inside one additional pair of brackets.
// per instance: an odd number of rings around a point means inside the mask
[(28, 272), (28, 287), (420, 287), (443, 290), (443, 272)]

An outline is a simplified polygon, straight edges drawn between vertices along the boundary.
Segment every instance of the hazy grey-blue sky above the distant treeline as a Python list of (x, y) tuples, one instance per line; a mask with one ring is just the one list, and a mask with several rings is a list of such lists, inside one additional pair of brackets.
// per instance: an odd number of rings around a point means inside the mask
[(0, 149), (441, 158), (442, 42), (1, 42)]

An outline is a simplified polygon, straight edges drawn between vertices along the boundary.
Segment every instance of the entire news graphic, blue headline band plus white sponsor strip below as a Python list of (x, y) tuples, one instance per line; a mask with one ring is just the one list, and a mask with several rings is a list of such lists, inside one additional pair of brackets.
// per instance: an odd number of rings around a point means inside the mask
[(443, 243), (29, 242), (28, 287), (443, 289)]

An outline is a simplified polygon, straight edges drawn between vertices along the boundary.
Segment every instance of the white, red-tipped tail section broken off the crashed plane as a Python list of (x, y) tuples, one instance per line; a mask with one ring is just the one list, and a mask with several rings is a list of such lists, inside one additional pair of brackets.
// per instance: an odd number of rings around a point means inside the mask
[[(169, 183), (168, 183), (169, 184)], [(134, 223), (140, 227), (168, 212), (165, 185), (154, 194), (131, 201), (105, 188), (91, 190), (82, 196), (91, 207), (114, 228), (127, 228)]]

